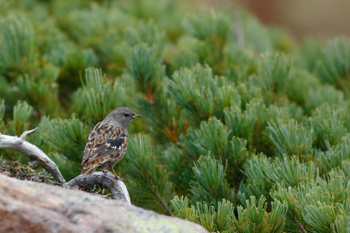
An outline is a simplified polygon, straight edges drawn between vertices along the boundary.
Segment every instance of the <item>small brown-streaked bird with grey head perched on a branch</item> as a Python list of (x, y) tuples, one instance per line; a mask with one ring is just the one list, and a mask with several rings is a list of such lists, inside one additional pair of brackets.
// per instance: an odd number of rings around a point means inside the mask
[(83, 170), (80, 175), (91, 176), (96, 168), (103, 172), (108, 169), (114, 173), (114, 181), (121, 179), (116, 165), (125, 155), (128, 146), (128, 126), (134, 118), (142, 117), (128, 107), (119, 107), (110, 112), (106, 118), (92, 129), (84, 149)]

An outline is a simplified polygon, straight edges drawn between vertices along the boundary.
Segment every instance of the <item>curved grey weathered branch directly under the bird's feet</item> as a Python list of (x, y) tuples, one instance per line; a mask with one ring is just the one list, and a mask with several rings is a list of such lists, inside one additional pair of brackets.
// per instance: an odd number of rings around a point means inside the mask
[(99, 171), (94, 172), (92, 176), (77, 176), (68, 182), (67, 186), (75, 189), (91, 189), (94, 185), (98, 185), (101, 188), (108, 189), (111, 192), (113, 199), (131, 204), (128, 190), (123, 181), (117, 180), (114, 182), (114, 175), (112, 172), (106, 172), (103, 177), (102, 174), (103, 172)]

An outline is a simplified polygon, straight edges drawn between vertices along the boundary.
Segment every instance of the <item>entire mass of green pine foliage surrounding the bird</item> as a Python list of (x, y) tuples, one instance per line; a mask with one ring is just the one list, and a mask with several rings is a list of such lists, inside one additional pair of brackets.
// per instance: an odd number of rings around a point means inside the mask
[(0, 132), (38, 126), (27, 140), (66, 180), (127, 106), (143, 116), (116, 165), (133, 204), (210, 232), (350, 231), (348, 38), (298, 44), (182, 1), (0, 6)]

